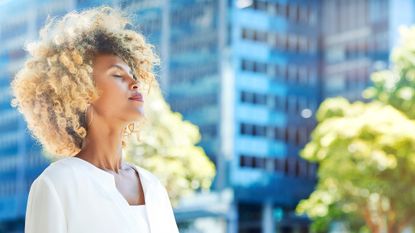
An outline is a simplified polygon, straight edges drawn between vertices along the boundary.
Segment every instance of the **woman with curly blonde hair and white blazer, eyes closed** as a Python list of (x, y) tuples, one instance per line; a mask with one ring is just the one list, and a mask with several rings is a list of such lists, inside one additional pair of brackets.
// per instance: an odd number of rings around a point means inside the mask
[(33, 182), (26, 233), (178, 232), (166, 189), (123, 161), (158, 58), (109, 7), (47, 23), (12, 82), (13, 106), (50, 153)]

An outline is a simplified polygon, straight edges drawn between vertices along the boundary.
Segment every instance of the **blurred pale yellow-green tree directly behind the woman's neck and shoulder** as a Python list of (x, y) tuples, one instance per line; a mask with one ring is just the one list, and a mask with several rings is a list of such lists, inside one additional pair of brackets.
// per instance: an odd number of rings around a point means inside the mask
[(197, 126), (172, 112), (159, 89), (153, 87), (144, 105), (145, 122), (138, 139), (130, 137), (126, 160), (153, 172), (165, 185), (172, 204), (195, 191), (207, 191), (215, 166), (196, 146), (201, 135)]

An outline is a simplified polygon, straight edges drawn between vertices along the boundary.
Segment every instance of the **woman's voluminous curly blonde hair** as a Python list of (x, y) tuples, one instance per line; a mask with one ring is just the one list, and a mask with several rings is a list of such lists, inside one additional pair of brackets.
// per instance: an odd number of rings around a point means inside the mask
[(12, 106), (49, 153), (71, 156), (81, 150), (87, 134), (85, 112), (100, 95), (92, 78), (97, 54), (122, 58), (144, 87), (158, 84), (154, 46), (131, 26), (127, 16), (110, 7), (74, 11), (48, 20), (40, 39), (27, 45), (29, 57), (11, 83)]

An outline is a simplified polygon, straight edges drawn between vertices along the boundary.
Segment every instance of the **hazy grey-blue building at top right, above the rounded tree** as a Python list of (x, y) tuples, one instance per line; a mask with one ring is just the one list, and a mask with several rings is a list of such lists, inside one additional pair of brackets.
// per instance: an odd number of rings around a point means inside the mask
[(323, 0), (321, 4), (324, 96), (362, 100), (370, 74), (388, 68), (399, 26), (415, 21), (415, 2)]

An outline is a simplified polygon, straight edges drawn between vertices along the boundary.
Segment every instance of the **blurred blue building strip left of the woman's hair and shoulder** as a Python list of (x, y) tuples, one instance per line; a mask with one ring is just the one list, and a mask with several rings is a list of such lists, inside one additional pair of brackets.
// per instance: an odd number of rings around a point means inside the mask
[(0, 2), (0, 232), (23, 232), (30, 185), (49, 163), (10, 106), (9, 84), (23, 65), (24, 44), (38, 36), (47, 15), (72, 8), (65, 1)]

